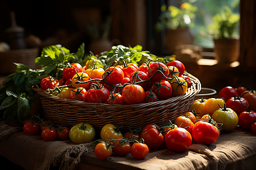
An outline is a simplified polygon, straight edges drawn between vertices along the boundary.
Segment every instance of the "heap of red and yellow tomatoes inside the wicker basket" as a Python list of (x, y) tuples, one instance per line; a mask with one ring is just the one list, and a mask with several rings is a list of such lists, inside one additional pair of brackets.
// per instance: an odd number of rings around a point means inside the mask
[(52, 76), (42, 79), (41, 88), (66, 99), (91, 103), (141, 104), (184, 95), (191, 79), (184, 75), (180, 61), (150, 62), (136, 65), (82, 67), (72, 63), (62, 71), (58, 80)]

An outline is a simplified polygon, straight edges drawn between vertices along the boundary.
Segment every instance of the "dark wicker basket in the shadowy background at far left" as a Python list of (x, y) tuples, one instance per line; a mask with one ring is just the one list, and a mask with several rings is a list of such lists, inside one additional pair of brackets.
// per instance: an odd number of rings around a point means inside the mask
[(13, 49), (7, 52), (0, 52), (0, 73), (10, 74), (16, 71), (16, 63), (23, 63), (31, 69), (38, 69), (40, 66), (35, 64), (38, 57), (39, 48)]

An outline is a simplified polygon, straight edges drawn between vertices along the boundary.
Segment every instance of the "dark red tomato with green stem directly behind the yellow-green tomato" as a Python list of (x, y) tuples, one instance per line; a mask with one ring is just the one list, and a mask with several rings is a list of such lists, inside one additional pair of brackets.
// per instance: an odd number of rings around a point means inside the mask
[(239, 96), (231, 97), (226, 101), (226, 107), (232, 108), (233, 111), (237, 113), (237, 116), (239, 116), (240, 113), (245, 112), (246, 107), (248, 106), (249, 102), (247, 101), (247, 99)]

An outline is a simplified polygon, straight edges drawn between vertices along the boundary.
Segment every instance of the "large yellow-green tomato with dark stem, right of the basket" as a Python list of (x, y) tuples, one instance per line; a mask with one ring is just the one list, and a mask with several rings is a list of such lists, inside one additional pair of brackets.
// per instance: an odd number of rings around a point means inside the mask
[(234, 130), (237, 127), (239, 121), (237, 113), (230, 108), (226, 108), (226, 105), (224, 105), (224, 108), (217, 109), (212, 114), (212, 118), (217, 123), (223, 124), (221, 129), (224, 131)]

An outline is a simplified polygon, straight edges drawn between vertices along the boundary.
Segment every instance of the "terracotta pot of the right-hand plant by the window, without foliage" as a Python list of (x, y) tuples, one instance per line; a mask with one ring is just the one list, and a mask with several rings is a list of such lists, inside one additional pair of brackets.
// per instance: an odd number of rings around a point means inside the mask
[(215, 59), (219, 63), (232, 63), (240, 54), (239, 39), (214, 39)]

